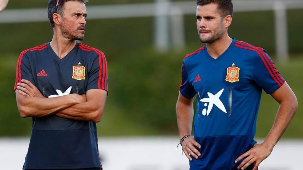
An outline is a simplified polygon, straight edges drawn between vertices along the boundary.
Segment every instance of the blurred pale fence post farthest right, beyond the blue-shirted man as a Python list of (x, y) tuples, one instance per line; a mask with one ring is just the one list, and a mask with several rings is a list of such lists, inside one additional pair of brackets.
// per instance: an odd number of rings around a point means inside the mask
[(278, 62), (288, 61), (288, 32), (286, 6), (282, 1), (274, 3), (276, 54)]

